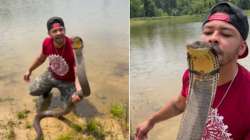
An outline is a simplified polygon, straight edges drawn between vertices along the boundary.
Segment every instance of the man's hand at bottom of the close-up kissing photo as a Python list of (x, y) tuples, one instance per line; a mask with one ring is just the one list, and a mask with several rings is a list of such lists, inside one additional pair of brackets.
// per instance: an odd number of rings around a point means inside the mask
[(136, 127), (135, 140), (146, 140), (148, 131), (154, 127), (154, 123), (146, 120)]

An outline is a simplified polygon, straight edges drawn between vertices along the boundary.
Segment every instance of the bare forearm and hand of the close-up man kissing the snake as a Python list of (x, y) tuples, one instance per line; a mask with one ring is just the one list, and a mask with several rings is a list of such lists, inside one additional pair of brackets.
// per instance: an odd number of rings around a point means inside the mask
[(179, 95), (163, 106), (160, 111), (154, 113), (151, 117), (139, 124), (136, 128), (136, 140), (143, 140), (154, 125), (160, 121), (167, 120), (181, 114), (186, 107), (186, 98)]

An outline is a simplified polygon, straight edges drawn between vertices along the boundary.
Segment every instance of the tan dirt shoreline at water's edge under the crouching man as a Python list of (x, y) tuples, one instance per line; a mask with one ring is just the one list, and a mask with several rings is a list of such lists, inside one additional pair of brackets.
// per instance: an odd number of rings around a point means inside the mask
[[(15, 99), (5, 98), (1, 99), (1, 104), (9, 104), (6, 106), (5, 113), (8, 114), (0, 119), (0, 139), (2, 140), (34, 140), (36, 133), (32, 127), (33, 119), (35, 116), (35, 106), (20, 106), (19, 109), (13, 108)], [(87, 104), (87, 103), (83, 103)], [(35, 104), (34, 104), (35, 105)], [(8, 113), (6, 112), (8, 111)], [(89, 116), (88, 116), (89, 115)], [(45, 118), (41, 122), (45, 134), (45, 140), (60, 140), (63, 139), (76, 139), (76, 140), (125, 140), (128, 137), (128, 130), (124, 134), (124, 128), (118, 119), (111, 114), (94, 115), (85, 114), (80, 116), (77, 113), (70, 113), (65, 116), (66, 121), (60, 121), (57, 118)], [(95, 120), (96, 125), (101, 127), (100, 133), (105, 135), (104, 137), (96, 136), (95, 134), (87, 131), (88, 121)]]

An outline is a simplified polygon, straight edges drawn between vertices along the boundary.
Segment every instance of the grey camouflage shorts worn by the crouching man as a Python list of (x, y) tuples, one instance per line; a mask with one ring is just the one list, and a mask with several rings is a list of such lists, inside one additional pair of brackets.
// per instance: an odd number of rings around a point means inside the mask
[(37, 77), (29, 87), (32, 96), (48, 94), (52, 88), (58, 88), (64, 101), (68, 101), (69, 97), (76, 91), (74, 82), (57, 80), (50, 71)]

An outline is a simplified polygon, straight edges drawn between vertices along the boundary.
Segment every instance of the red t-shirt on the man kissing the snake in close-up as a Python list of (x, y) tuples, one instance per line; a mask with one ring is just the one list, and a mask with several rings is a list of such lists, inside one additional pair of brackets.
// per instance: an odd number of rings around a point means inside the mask
[[(222, 116), (217, 117), (221, 118), (218, 119), (221, 121), (207, 121), (203, 133), (204, 140), (208, 140), (211, 135), (214, 136), (215, 140), (229, 139), (229, 136), (233, 140), (250, 140), (250, 73), (239, 64), (238, 68), (238, 74), (218, 108), (218, 112), (213, 112), (216, 116)], [(189, 86), (188, 70), (185, 71), (182, 80), (181, 94), (186, 97)], [(230, 82), (217, 87), (212, 108), (219, 104), (229, 84)]]

